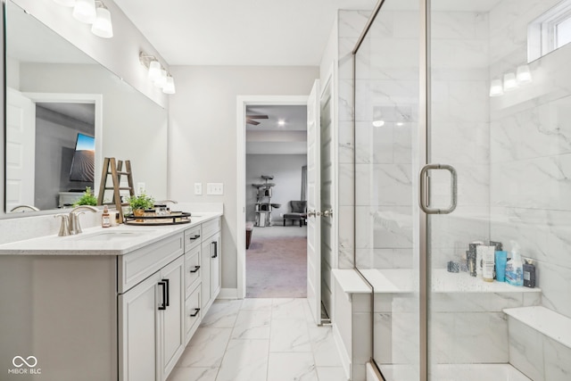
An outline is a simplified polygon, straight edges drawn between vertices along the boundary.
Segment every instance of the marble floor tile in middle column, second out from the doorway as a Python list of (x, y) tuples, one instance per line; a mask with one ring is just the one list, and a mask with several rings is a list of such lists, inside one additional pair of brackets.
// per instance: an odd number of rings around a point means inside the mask
[(271, 322), (270, 352), (311, 352), (305, 319), (277, 319)]

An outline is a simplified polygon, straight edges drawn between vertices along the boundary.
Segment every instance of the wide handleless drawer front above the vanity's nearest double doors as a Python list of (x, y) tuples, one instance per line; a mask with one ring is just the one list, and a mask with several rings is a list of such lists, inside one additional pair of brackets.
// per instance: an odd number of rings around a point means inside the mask
[(183, 234), (118, 257), (117, 292), (123, 294), (184, 253)]

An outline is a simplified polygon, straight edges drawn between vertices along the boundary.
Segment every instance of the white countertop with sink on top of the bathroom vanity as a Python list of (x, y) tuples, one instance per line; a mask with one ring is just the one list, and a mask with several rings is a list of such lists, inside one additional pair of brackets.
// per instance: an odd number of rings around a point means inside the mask
[(0, 244), (0, 255), (123, 255), (221, 215), (219, 211), (200, 211), (189, 223), (179, 225), (84, 228), (77, 236), (41, 236)]

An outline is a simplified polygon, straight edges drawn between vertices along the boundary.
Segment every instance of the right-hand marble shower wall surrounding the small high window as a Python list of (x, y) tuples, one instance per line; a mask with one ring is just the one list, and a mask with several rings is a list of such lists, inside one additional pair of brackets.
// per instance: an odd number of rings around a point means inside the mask
[[(490, 79), (526, 62), (527, 25), (559, 1), (489, 13)], [(571, 46), (529, 64), (534, 82), (491, 98), (491, 238), (536, 261), (542, 304), (571, 317)]]

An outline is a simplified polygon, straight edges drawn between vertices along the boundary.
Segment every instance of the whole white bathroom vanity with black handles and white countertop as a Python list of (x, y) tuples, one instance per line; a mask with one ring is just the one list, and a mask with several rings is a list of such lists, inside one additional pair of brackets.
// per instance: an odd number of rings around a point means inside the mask
[(165, 380), (220, 290), (221, 213), (200, 214), (0, 245), (2, 379)]

